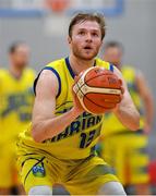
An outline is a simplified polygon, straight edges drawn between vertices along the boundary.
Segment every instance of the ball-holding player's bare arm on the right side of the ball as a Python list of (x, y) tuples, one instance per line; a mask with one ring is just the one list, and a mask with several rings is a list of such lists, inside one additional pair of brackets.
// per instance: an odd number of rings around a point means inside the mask
[(132, 101), (132, 98), (129, 94), (127, 84), (122, 77), (120, 71), (115, 68), (115, 73), (122, 79), (123, 83), (123, 98), (117, 109), (115, 110), (115, 114), (121, 121), (121, 123), (132, 131), (136, 131), (140, 128), (140, 114)]

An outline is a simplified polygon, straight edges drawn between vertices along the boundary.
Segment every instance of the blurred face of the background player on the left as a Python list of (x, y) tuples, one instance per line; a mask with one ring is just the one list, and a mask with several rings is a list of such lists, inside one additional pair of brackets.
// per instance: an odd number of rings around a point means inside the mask
[(24, 69), (28, 64), (29, 48), (25, 45), (21, 45), (15, 49), (10, 58), (14, 66), (17, 69)]

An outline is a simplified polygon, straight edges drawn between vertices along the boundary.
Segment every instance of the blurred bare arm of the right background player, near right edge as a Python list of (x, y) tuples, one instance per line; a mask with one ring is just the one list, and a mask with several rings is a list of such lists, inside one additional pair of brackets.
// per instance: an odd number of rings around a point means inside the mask
[(154, 98), (152, 90), (141, 71), (135, 76), (139, 94), (143, 100), (145, 108), (145, 132), (149, 132), (154, 120)]

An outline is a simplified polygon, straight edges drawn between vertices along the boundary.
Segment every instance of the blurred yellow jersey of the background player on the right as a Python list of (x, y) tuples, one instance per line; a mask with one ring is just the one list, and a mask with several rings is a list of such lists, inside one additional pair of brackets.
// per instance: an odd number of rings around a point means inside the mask
[[(140, 111), (141, 119), (140, 119), (140, 128), (143, 128), (144, 118), (143, 118), (143, 105), (140, 98), (139, 89), (136, 86), (135, 75), (136, 71), (132, 66), (122, 66), (121, 73), (123, 78), (127, 82), (129, 93), (132, 97), (132, 100)], [(122, 133), (125, 132), (128, 128), (122, 125), (122, 123), (116, 118), (113, 113), (107, 113), (104, 119), (103, 123), (103, 134), (105, 136), (109, 136), (111, 134)]]

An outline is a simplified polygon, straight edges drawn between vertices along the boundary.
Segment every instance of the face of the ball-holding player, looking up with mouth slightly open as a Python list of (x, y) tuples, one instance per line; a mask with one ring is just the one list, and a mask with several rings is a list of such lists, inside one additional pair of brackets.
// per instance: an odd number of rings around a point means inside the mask
[(94, 59), (101, 46), (99, 24), (94, 21), (84, 21), (73, 26), (69, 44), (72, 53), (82, 60)]

